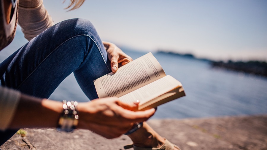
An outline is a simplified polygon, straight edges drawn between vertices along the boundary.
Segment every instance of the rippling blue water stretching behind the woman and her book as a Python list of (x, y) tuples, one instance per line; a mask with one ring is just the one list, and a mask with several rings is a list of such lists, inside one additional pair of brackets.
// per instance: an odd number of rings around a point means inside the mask
[[(6, 49), (0, 61), (26, 43), (20, 32)], [(122, 48), (133, 59), (147, 52)], [(208, 61), (152, 52), (167, 75), (179, 80), (186, 96), (158, 107), (152, 118), (202, 118), (232, 115), (267, 114), (267, 78), (212, 68)], [(50, 96), (53, 100), (89, 99), (70, 74)]]

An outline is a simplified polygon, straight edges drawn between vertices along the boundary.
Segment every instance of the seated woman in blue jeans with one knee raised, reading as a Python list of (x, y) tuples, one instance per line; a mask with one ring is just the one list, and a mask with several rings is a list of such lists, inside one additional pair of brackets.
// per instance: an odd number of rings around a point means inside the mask
[[(71, 0), (68, 8), (76, 9), (83, 2)], [(29, 40), (0, 64), (1, 145), (19, 128), (58, 127), (88, 129), (106, 138), (126, 133), (134, 149), (179, 149), (144, 122), (155, 113), (154, 108), (135, 112), (131, 110), (138, 102), (129, 105), (116, 97), (97, 99), (93, 80), (117, 71), (132, 58), (115, 44), (102, 42), (88, 20), (54, 25), (42, 0), (1, 0), (1, 8), (0, 50), (12, 41), (17, 21)], [(85, 95), (95, 100), (77, 106), (47, 99), (72, 72)]]

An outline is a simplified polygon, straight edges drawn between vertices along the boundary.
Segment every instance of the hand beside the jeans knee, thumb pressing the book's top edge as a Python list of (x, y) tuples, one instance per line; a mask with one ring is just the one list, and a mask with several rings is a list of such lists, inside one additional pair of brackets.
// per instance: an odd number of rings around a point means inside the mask
[(110, 60), (110, 66), (112, 72), (116, 72), (120, 66), (123, 66), (133, 59), (126, 55), (119, 47), (110, 42), (103, 42), (105, 49), (107, 50), (107, 55)]

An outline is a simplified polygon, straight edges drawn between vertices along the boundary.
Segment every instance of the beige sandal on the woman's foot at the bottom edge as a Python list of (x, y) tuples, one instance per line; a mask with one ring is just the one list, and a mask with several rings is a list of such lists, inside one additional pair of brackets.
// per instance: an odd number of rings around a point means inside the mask
[(165, 139), (165, 143), (158, 148), (137, 147), (134, 144), (124, 146), (124, 149), (130, 149), (130, 148), (134, 148), (134, 150), (174, 150), (174, 148), (181, 150), (177, 145), (169, 142), (167, 139)]

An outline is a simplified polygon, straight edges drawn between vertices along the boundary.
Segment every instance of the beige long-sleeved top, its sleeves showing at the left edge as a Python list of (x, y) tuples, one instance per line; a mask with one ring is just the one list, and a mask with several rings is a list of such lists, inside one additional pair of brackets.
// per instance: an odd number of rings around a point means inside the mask
[[(10, 25), (12, 23), (14, 25)], [(14, 30), (15, 21), (11, 21), (10, 24), (5, 26), (5, 30)], [(54, 25), (54, 22), (47, 13), (42, 0), (19, 0), (18, 24), (21, 26), (25, 38), (31, 40)], [(0, 130), (8, 128), (15, 114), (20, 95), (18, 91), (0, 87)]]

